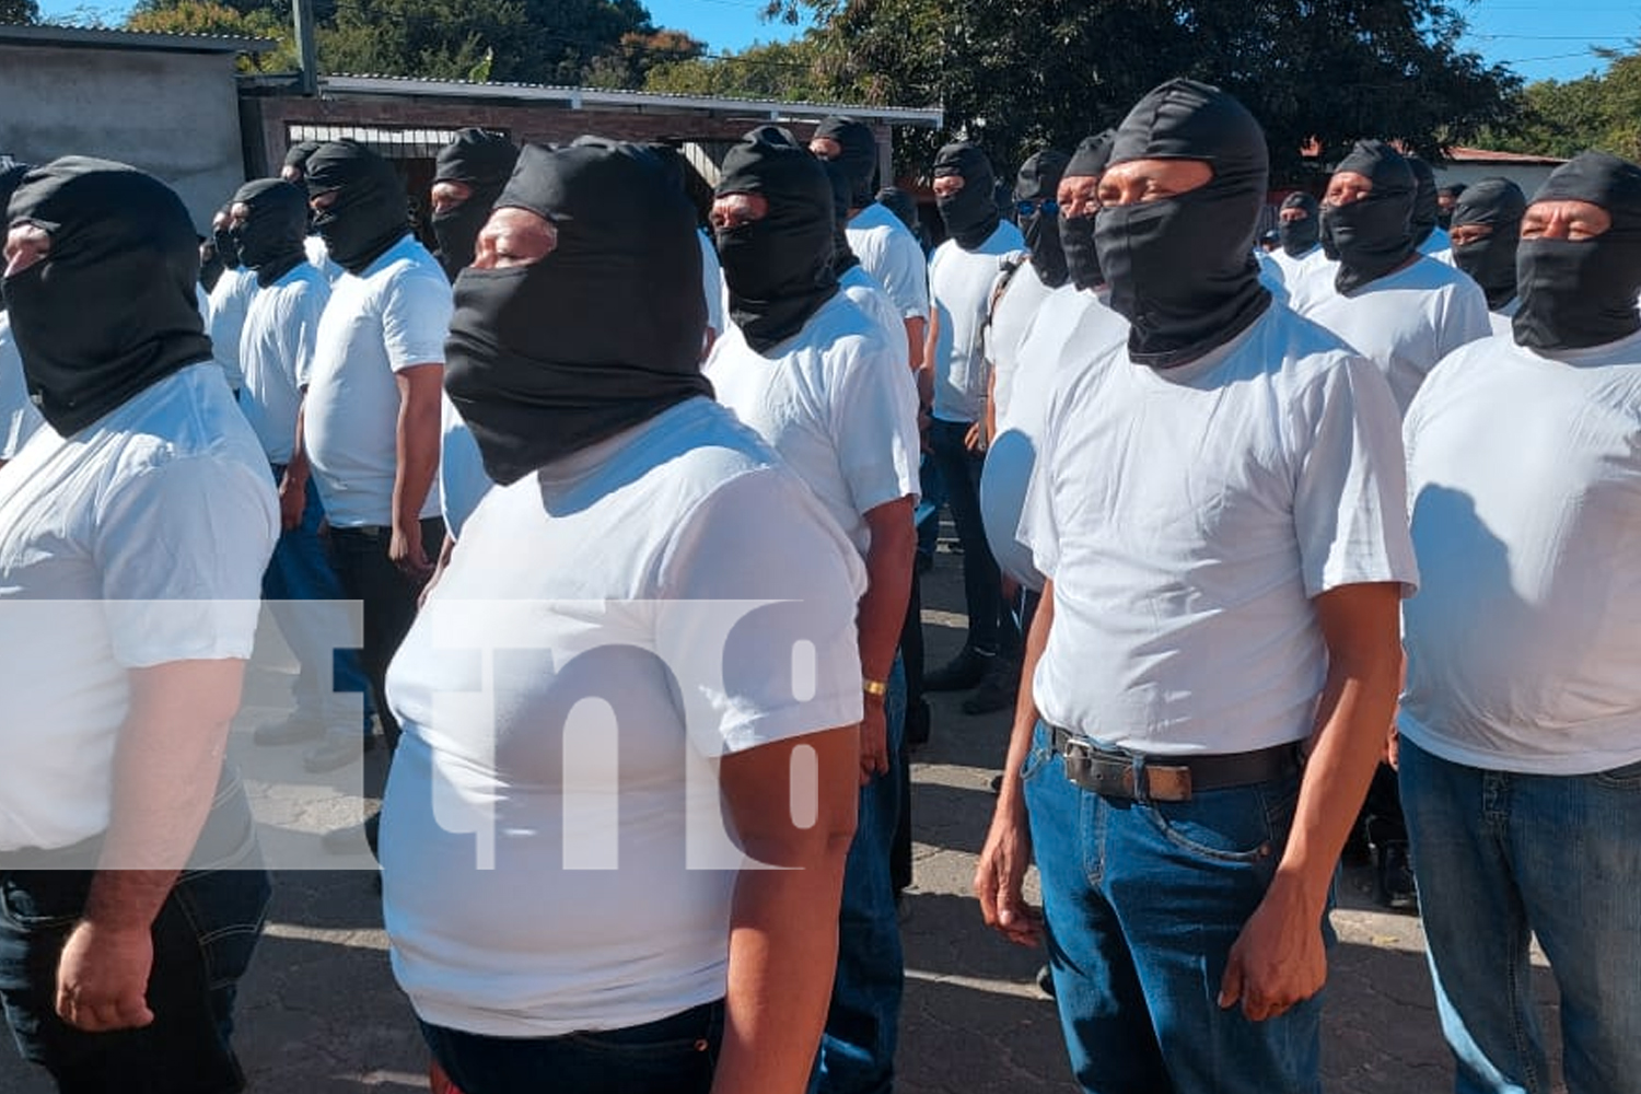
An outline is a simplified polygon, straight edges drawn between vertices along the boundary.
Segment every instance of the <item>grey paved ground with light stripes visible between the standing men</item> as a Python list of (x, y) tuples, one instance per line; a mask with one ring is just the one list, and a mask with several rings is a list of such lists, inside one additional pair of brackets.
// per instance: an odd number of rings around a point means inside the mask
[[(957, 556), (942, 554), (926, 592), (929, 664), (962, 641)], [(256, 669), (235, 750), (287, 694), (289, 677)], [(1001, 764), (1004, 715), (968, 718), (937, 695), (934, 740), (916, 756), (916, 887), (906, 902), (904, 1094), (1067, 1091), (1054, 1004), (1039, 996), (1037, 953), (988, 932), (970, 896), (975, 855), (991, 815), (988, 782)], [(277, 750), (274, 776), (254, 784), (274, 841), (297, 845), (341, 823), (358, 800), (300, 773), (300, 748)], [(258, 750), (267, 771), (269, 750)], [(282, 764), (282, 766), (281, 766)], [(363, 859), (368, 861), (368, 859)], [(363, 864), (361, 861), (361, 864)], [(353, 1094), (425, 1091), (427, 1053), (394, 986), (381, 909), (368, 871), (282, 873), (272, 919), (241, 986), (238, 1046), (251, 1091)], [(1334, 915), (1324, 1073), (1329, 1091), (1441, 1094), (1452, 1068), (1441, 1040), (1418, 920), (1374, 910), (1365, 871), (1347, 871)], [(1544, 1020), (1554, 992), (1539, 969)], [(51, 1084), (0, 1038), (0, 1092), (46, 1094)]]

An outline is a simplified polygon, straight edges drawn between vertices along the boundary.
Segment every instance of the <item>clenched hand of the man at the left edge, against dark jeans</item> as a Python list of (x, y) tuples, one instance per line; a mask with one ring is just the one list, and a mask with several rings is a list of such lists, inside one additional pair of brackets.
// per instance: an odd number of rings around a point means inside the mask
[(57, 1015), (77, 1030), (135, 1030), (154, 1020), (148, 974), (154, 940), (146, 927), (82, 922), (57, 961)]

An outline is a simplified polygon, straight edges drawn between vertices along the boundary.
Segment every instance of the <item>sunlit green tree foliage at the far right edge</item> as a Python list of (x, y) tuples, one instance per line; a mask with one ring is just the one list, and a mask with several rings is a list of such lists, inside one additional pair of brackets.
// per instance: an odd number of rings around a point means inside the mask
[(1641, 159), (1641, 52), (1598, 52), (1608, 62), (1603, 74), (1529, 84), (1518, 123), (1488, 130), (1483, 146), (1561, 157), (1597, 149)]

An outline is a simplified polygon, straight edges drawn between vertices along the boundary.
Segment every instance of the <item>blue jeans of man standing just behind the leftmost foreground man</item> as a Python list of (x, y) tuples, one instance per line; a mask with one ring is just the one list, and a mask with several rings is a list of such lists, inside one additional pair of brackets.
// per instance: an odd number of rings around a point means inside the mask
[[(277, 484), (286, 469), (276, 466), (272, 471)], [(318, 487), (310, 477), (302, 523), (279, 535), (274, 556), (263, 572), (263, 599), (267, 600), (279, 633), (286, 636), (286, 645), (297, 658), (299, 672), (290, 689), (297, 717), (341, 728), (350, 712), (356, 709), (354, 700), (346, 695), (363, 692), (364, 727), (369, 728), (373, 702), (359, 654), (354, 650), (336, 648), (336, 638), (348, 633), (346, 612), (336, 604), (313, 604), (343, 599), (341, 581), (325, 558), (325, 545), (318, 538), (323, 518)]]

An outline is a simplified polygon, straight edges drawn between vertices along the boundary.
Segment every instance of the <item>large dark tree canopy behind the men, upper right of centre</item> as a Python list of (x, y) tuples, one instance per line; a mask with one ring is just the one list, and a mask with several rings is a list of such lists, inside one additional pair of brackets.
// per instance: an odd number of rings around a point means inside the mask
[[(947, 133), (1001, 162), (1116, 125), (1173, 75), (1236, 93), (1278, 179), (1362, 136), (1423, 153), (1515, 116), (1518, 79), (1460, 49), (1442, 0), (771, 0), (814, 16), (829, 97), (942, 103)], [(927, 148), (911, 148), (922, 159)]]

